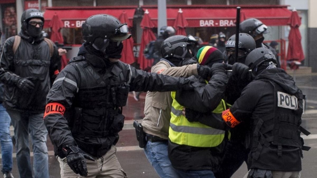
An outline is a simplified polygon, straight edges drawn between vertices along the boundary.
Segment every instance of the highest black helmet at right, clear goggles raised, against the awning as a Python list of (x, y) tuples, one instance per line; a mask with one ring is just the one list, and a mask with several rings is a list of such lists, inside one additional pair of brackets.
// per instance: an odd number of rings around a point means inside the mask
[(247, 33), (253, 38), (259, 34), (267, 34), (268, 27), (256, 18), (246, 19), (240, 23), (240, 33)]

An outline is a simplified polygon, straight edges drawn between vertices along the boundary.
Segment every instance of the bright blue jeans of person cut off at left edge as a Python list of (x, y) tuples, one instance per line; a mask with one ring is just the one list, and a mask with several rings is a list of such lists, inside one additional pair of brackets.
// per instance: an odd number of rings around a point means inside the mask
[(2, 155), (2, 171), (12, 170), (12, 139), (10, 137), (10, 116), (2, 104), (0, 104), (0, 142)]

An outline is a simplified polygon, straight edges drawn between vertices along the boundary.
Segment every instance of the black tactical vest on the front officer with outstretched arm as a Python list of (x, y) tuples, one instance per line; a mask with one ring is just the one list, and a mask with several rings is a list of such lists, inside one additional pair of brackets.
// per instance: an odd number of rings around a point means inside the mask
[(73, 65), (80, 73), (81, 85), (67, 120), (79, 148), (102, 156), (117, 143), (123, 128), (122, 106), (128, 97), (130, 70), (117, 62), (100, 73), (83, 56), (76, 58)]

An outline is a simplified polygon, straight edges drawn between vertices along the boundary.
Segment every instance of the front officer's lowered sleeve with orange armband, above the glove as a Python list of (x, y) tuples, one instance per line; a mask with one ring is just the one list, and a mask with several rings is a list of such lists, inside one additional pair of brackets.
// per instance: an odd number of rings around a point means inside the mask
[(46, 98), (44, 123), (52, 142), (59, 149), (67, 144), (76, 145), (64, 115), (69, 112), (79, 83), (76, 69), (67, 65), (55, 79)]

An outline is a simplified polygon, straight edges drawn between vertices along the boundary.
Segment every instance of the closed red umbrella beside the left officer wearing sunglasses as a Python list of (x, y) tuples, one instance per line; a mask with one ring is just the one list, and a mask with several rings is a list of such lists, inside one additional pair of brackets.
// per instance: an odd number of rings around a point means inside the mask
[[(52, 20), (49, 22), (49, 26), (51, 27), (51, 40), (55, 43), (56, 41), (58, 43), (64, 43), (64, 39), (61, 35), (61, 28), (64, 27), (63, 22), (59, 19), (58, 15), (55, 13), (52, 17)], [(61, 56), (61, 69), (63, 69), (67, 63), (68, 59), (66, 57), (66, 54)]]

